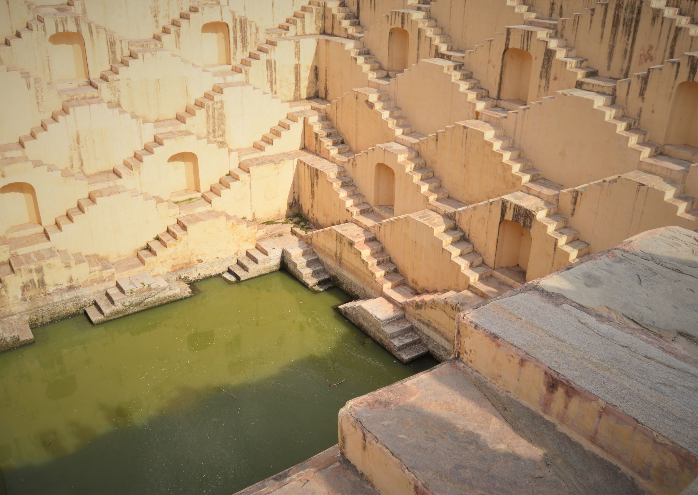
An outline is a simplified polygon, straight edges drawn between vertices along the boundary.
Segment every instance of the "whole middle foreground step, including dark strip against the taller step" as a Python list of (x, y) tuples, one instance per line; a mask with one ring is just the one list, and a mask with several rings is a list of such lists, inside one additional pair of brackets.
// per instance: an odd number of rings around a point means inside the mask
[(339, 445), (382, 495), (646, 493), (457, 360), (348, 401)]

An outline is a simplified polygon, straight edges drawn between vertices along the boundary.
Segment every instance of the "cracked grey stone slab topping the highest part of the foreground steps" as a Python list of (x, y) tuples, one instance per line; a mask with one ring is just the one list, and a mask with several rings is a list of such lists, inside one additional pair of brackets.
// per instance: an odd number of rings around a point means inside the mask
[(698, 342), (698, 233), (682, 228), (639, 235), (540, 282), (623, 323), (674, 339)]

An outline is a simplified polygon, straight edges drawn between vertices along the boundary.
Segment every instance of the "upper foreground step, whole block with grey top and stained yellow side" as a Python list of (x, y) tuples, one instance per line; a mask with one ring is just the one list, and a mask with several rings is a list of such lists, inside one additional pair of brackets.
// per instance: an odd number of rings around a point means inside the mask
[(456, 355), (665, 493), (698, 476), (698, 234), (632, 237), (461, 313)]

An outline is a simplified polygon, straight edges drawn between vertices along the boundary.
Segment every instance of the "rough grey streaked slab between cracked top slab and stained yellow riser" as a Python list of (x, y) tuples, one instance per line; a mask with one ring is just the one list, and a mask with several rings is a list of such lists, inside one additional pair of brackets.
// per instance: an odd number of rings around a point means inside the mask
[(466, 318), (646, 427), (698, 452), (698, 369), (570, 304), (530, 293)]

